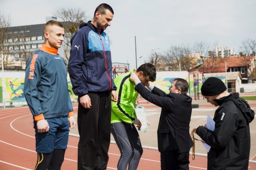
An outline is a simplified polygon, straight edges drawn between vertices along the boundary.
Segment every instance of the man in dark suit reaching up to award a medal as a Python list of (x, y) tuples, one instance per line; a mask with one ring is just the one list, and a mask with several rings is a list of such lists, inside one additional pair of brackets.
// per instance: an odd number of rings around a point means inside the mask
[(158, 150), (161, 153), (162, 170), (188, 170), (189, 151), (192, 147), (190, 137), (190, 118), (192, 99), (187, 95), (188, 83), (176, 78), (166, 94), (148, 83), (145, 88), (139, 78), (132, 74), (135, 90), (149, 102), (162, 108), (158, 125)]

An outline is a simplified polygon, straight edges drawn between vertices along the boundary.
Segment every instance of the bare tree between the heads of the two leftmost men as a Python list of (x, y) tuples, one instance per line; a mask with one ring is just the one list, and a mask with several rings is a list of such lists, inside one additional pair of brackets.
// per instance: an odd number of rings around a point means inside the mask
[(65, 59), (69, 60), (70, 40), (79, 30), (79, 24), (87, 21), (86, 12), (80, 8), (58, 8), (53, 13), (63, 24), (65, 30), (64, 43), (62, 48), (65, 53)]

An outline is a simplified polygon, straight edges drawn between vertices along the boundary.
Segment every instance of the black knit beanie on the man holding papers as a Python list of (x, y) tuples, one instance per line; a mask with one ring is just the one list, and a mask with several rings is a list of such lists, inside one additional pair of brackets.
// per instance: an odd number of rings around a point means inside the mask
[(226, 90), (226, 86), (222, 80), (216, 77), (209, 77), (201, 87), (201, 93), (204, 96), (217, 95)]

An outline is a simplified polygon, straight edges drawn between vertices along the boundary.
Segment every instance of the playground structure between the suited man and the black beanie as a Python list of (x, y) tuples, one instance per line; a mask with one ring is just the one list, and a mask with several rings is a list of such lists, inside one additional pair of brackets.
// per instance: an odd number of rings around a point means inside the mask
[[(200, 74), (202, 75), (202, 79), (199, 79)], [(204, 74), (202, 72), (190, 72), (190, 73), (188, 73), (187, 78), (188, 78), (188, 86), (189, 86), (189, 95), (190, 95), (190, 86), (191, 86), (191, 84), (190, 84), (190, 77), (191, 76), (190, 75), (193, 76), (194, 100), (197, 100), (197, 99), (199, 100), (199, 83), (203, 84), (203, 82), (206, 81), (206, 78), (204, 77)]]

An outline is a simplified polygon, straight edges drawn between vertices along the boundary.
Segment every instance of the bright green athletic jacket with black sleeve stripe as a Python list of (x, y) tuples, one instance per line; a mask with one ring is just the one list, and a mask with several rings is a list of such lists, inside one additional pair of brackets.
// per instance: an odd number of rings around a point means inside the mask
[(130, 80), (130, 74), (131, 72), (123, 73), (114, 79), (118, 100), (112, 102), (111, 124), (116, 122), (132, 124), (135, 118), (137, 119), (134, 106), (138, 93), (134, 89), (134, 82)]

